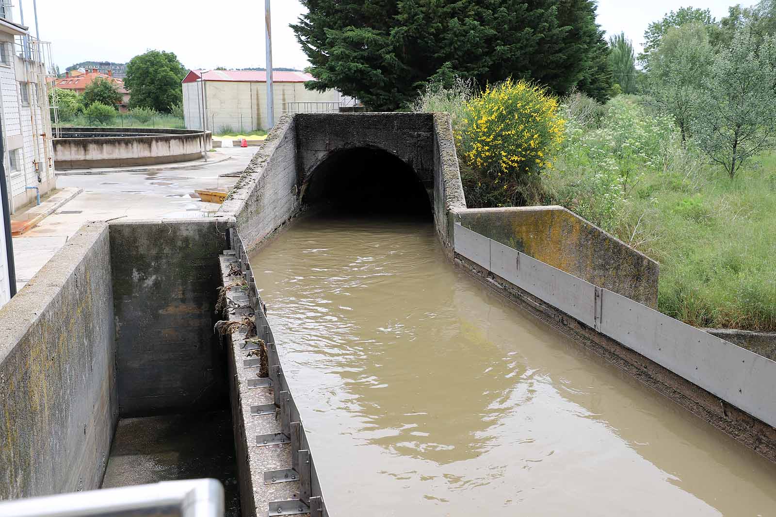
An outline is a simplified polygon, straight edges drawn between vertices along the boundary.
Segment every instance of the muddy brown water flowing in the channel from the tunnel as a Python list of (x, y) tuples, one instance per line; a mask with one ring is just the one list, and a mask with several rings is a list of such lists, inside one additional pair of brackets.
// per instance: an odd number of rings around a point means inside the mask
[(251, 265), (331, 515), (776, 515), (776, 465), (456, 269), (428, 222), (307, 218)]

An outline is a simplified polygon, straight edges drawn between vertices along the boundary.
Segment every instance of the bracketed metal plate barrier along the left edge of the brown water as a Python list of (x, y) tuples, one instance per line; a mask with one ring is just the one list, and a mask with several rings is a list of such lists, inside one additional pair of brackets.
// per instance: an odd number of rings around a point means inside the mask
[[(279, 412), (281, 426), (279, 433), (256, 436), (256, 445), (261, 447), (279, 443), (291, 444), (291, 465), (280, 470), (265, 472), (264, 481), (267, 484), (282, 483), (283, 481), (299, 481), (300, 483), (299, 498), (270, 502), (268, 515), (310, 513), (310, 517), (328, 517), (315, 463), (307, 443), (307, 435), (304, 432), (299, 410), (296, 408), (296, 403), (293, 401), (291, 390), (286, 382), (286, 376), (283, 375), (278, 349), (275, 345), (275, 336), (272, 335), (272, 328), (269, 327), (267, 317), (262, 311), (262, 302), (256, 289), (255, 277), (251, 270), (251, 264), (248, 262), (248, 255), (246, 255), (241, 238), (234, 228), (230, 228), (229, 238), (235, 259), (237, 259), (248, 285), (247, 301), (255, 314), (257, 337), (265, 342), (267, 349), (269, 376), (249, 379), (248, 387), (271, 387), (274, 399), (272, 404), (252, 406), (251, 415), (278, 415)], [(258, 349), (258, 345), (244, 348), (246, 351), (251, 349)], [(260, 366), (261, 359), (243, 360), (246, 367)]]

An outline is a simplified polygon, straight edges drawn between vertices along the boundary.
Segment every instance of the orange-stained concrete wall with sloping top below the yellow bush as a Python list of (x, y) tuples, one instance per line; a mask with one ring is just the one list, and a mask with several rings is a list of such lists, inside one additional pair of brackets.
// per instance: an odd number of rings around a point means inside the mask
[(456, 210), (455, 219), (570, 275), (657, 306), (657, 262), (563, 206)]

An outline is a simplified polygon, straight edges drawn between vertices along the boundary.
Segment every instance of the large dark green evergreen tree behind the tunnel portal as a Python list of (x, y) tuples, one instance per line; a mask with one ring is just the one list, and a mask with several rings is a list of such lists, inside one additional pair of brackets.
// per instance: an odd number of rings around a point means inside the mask
[[(532, 78), (559, 94), (607, 81), (593, 0), (302, 0), (293, 25), (317, 78), (372, 109), (397, 109), (434, 79)], [(586, 85), (594, 96), (611, 85)]]

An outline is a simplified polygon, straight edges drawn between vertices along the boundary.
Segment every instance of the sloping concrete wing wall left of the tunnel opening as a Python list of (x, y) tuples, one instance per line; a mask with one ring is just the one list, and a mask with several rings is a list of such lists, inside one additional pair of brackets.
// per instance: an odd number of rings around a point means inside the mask
[(282, 116), (216, 214), (237, 220), (246, 248), (299, 212), (296, 158), (296, 125), (292, 116)]

